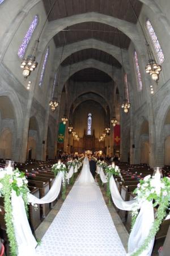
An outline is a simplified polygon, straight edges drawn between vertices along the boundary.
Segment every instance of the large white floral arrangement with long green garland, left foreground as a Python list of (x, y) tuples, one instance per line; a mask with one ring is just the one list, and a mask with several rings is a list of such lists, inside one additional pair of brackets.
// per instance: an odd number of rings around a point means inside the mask
[(29, 192), (29, 189), (27, 183), (28, 181), (25, 174), (20, 172), (18, 168), (15, 171), (12, 170), (12, 167), (0, 170), (0, 194), (4, 197), (6, 232), (8, 240), (10, 241), (10, 255), (12, 256), (17, 255), (18, 246), (12, 221), (11, 193), (12, 190), (14, 190), (17, 196), (21, 195), (23, 197), (25, 210), (28, 216), (27, 193)]

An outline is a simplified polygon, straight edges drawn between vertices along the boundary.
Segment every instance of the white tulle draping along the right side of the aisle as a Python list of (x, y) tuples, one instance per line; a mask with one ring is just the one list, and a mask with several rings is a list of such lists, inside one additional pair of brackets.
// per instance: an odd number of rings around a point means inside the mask
[[(105, 174), (103, 172), (103, 168), (100, 168), (100, 178), (104, 183), (106, 179)], [(116, 182), (114, 181), (113, 176), (109, 180), (109, 188), (111, 191), (111, 196), (113, 203), (116, 205), (118, 209), (121, 210), (131, 210), (135, 204), (136, 200), (124, 201), (118, 191)], [(128, 241), (128, 254), (132, 255), (139, 249), (139, 247), (144, 243), (147, 238), (151, 226), (154, 222), (154, 208), (152, 207), (152, 203), (147, 200), (141, 205), (141, 210), (137, 216), (137, 220), (131, 230), (129, 241)], [(152, 249), (154, 246), (154, 239), (150, 242), (150, 245), (147, 246), (147, 249), (140, 254), (140, 256), (150, 256), (152, 253)]]

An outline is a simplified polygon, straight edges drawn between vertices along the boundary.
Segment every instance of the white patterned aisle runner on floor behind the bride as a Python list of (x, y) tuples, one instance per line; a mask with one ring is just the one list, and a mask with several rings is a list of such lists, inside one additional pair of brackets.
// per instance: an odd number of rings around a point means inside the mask
[(74, 184), (36, 252), (41, 256), (126, 255), (99, 186)]

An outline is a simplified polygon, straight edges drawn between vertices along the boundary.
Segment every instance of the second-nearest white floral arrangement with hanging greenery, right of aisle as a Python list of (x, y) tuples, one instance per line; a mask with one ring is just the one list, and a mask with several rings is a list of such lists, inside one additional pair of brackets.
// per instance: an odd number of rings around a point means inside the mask
[(105, 167), (105, 172), (107, 178), (107, 196), (109, 197), (109, 204), (111, 204), (111, 191), (109, 187), (109, 180), (111, 179), (111, 176), (120, 176), (122, 181), (124, 181), (124, 179), (122, 178), (120, 168), (118, 166), (115, 166), (114, 163), (112, 163), (112, 165)]

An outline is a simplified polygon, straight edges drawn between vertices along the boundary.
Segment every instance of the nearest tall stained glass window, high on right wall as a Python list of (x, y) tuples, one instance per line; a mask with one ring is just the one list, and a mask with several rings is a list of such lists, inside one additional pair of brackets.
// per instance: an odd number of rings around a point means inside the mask
[(162, 64), (164, 59), (165, 59), (164, 53), (162, 51), (162, 48), (160, 47), (158, 38), (157, 38), (157, 36), (155, 34), (154, 28), (152, 27), (150, 20), (147, 20), (146, 26), (147, 26), (148, 32), (150, 34), (151, 40), (152, 40), (152, 42), (154, 44), (156, 53), (158, 55), (159, 63)]

